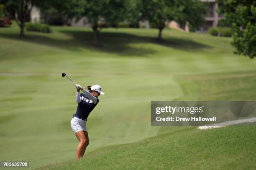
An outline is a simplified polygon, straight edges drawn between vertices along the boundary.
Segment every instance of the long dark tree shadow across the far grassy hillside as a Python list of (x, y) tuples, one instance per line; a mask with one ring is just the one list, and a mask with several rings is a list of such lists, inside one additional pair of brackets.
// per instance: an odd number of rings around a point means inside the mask
[(100, 46), (96, 47), (92, 45), (92, 31), (65, 30), (59, 32), (69, 35), (72, 38), (55, 39), (49, 35), (43, 35), (42, 33), (32, 35), (28, 32), (25, 38), (20, 38), (18, 33), (0, 33), (0, 37), (21, 40), (26, 42), (33, 42), (42, 45), (48, 45), (51, 47), (58, 47), (65, 50), (79, 51), (84, 48), (95, 51), (115, 53), (118, 55), (125, 56), (145, 56), (157, 52), (155, 49), (152, 49), (151, 47), (139, 45), (141, 43), (153, 43), (165, 47), (176, 48), (179, 50), (202, 50), (205, 48), (210, 48), (210, 46), (208, 45), (204, 45), (193, 40), (171, 37), (170, 39), (163, 39), (162, 41), (158, 41), (156, 40), (155, 37), (139, 36), (117, 32), (100, 32), (100, 34), (98, 35)]

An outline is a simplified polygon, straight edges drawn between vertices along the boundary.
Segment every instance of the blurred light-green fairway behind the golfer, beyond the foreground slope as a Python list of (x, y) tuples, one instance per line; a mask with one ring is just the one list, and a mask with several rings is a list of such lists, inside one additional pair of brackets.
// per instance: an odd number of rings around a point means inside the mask
[(70, 127), (75, 82), (106, 95), (90, 114), (87, 152), (194, 127), (151, 126), (151, 100), (256, 100), (256, 60), (233, 54), (231, 38), (156, 29), (90, 28), (51, 34), (0, 28), (0, 160), (30, 168), (75, 157)]

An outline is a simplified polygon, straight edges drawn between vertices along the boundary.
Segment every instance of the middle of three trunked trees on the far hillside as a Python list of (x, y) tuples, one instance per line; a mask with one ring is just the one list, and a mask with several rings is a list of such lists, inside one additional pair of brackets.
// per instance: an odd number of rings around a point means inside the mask
[(101, 24), (118, 25), (118, 23), (133, 16), (132, 11), (136, 0), (71, 0), (68, 15), (79, 20), (87, 18), (93, 30), (93, 44), (98, 45), (97, 36), (102, 29)]

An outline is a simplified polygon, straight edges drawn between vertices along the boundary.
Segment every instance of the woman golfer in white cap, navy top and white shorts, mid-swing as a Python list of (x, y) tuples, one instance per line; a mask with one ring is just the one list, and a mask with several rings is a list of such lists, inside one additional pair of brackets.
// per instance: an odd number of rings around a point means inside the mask
[[(104, 95), (101, 91), (99, 85), (87, 86), (89, 92), (81, 87), (81, 85), (76, 85), (77, 95), (76, 102), (77, 112), (73, 115), (71, 120), (71, 128), (74, 131), (79, 144), (77, 146), (77, 160), (84, 156), (86, 147), (89, 145), (89, 137), (86, 128), (87, 117), (94, 107), (98, 104), (100, 95)], [(79, 93), (80, 90), (83, 93)]]

